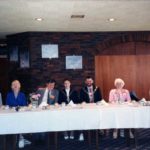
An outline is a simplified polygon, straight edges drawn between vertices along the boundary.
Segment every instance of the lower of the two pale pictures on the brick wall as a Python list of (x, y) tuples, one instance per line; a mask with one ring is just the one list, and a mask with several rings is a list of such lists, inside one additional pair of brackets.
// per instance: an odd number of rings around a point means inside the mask
[(82, 56), (66, 56), (66, 69), (82, 69)]

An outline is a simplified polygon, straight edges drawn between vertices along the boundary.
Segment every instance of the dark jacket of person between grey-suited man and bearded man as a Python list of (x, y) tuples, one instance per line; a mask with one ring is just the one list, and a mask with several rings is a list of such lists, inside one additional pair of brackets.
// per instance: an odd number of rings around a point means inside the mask
[(79, 103), (79, 96), (78, 96), (77, 91), (72, 88), (70, 89), (69, 101), (68, 101), (66, 90), (62, 89), (59, 94), (59, 102), (58, 103), (61, 104), (61, 103), (65, 102), (66, 104), (68, 104), (71, 100), (76, 104)]

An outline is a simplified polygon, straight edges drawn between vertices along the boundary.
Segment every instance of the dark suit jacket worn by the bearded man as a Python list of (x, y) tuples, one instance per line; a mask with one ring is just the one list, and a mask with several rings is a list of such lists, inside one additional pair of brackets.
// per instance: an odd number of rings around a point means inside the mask
[[(94, 94), (94, 96), (93, 96), (94, 97), (94, 103), (102, 100), (100, 88), (96, 87), (95, 85), (93, 85), (93, 94)], [(89, 98), (87, 86), (83, 87), (80, 90), (80, 102), (90, 103), (90, 98)]]

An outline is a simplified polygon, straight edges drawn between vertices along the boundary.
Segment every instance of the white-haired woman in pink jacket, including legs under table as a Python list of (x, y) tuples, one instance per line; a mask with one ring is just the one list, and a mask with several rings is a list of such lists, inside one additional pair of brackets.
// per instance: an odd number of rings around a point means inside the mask
[[(112, 89), (109, 93), (109, 102), (110, 103), (123, 103), (123, 102), (130, 102), (131, 98), (130, 98), (130, 94), (129, 91), (124, 89), (124, 81), (120, 78), (115, 79), (114, 82), (115, 85), (115, 89)], [(130, 134), (130, 138), (134, 138), (131, 130), (129, 132)], [(113, 138), (116, 139), (118, 136), (118, 130), (114, 129), (113, 131)], [(120, 130), (120, 136), (124, 137), (124, 130), (121, 129)]]

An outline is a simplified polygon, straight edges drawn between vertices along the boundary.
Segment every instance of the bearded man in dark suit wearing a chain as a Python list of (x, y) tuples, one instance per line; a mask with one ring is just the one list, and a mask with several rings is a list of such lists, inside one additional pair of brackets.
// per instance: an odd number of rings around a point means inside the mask
[(96, 103), (102, 100), (100, 88), (94, 85), (91, 77), (86, 77), (85, 86), (80, 90), (80, 101)]

